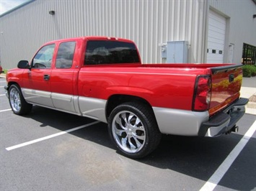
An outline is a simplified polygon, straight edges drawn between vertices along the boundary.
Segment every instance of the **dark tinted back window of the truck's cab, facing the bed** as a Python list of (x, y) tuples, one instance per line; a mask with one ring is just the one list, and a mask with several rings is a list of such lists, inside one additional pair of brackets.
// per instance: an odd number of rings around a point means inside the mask
[(96, 40), (87, 42), (84, 65), (140, 62), (133, 43)]

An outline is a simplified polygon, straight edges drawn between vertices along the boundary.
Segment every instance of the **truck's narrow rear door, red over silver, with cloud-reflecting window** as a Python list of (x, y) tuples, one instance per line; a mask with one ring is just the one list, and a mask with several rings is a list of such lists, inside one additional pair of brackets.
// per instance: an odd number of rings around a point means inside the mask
[(78, 95), (76, 93), (79, 67), (74, 59), (74, 51), (78, 46), (76, 41), (59, 44), (55, 67), (50, 76), (53, 106), (58, 110), (69, 113), (79, 113)]

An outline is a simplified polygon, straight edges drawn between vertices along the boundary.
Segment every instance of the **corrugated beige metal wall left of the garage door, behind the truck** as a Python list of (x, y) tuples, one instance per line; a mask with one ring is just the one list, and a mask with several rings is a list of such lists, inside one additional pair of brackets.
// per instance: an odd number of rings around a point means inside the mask
[(91, 35), (132, 39), (144, 63), (162, 62), (159, 43), (185, 40), (188, 62), (203, 62), (207, 6), (204, 0), (32, 1), (0, 17), (1, 65), (30, 60), (44, 42)]

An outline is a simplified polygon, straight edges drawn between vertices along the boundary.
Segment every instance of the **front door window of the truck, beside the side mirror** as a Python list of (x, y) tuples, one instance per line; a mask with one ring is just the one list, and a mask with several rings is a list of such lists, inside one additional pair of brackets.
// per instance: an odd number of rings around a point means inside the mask
[(50, 68), (53, 60), (54, 47), (55, 44), (42, 47), (32, 60), (32, 67)]

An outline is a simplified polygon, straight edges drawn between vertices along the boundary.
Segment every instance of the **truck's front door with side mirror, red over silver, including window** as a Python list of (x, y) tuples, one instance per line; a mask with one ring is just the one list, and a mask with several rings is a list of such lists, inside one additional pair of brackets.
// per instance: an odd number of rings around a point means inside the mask
[(50, 74), (55, 44), (41, 47), (31, 62), (31, 69), (24, 73), (22, 93), (30, 103), (53, 107), (50, 98)]

